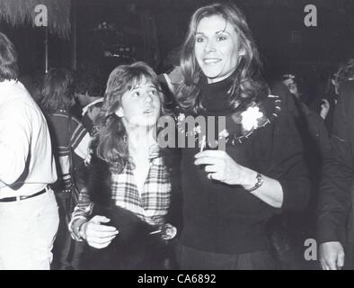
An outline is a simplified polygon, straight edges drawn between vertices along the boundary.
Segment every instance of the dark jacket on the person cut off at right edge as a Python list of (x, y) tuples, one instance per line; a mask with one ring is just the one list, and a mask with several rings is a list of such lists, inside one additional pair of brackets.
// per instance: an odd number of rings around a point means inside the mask
[(324, 159), (318, 202), (319, 244), (340, 241), (352, 266), (352, 181), (354, 175), (354, 81), (341, 88), (334, 112), (331, 152)]

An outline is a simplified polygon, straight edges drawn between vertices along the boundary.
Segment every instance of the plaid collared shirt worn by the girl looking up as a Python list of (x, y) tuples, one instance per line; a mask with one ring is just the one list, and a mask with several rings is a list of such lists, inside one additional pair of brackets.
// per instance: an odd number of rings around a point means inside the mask
[[(170, 206), (171, 183), (157, 144), (150, 148), (149, 160), (150, 168), (142, 193), (138, 193), (133, 167), (128, 163), (121, 173), (111, 175), (112, 198), (117, 206), (136, 213), (141, 220), (152, 225), (161, 225)], [(69, 229), (72, 231), (75, 220), (87, 218), (92, 211), (93, 202), (87, 192), (82, 191)], [(72, 235), (76, 238), (74, 233)]]

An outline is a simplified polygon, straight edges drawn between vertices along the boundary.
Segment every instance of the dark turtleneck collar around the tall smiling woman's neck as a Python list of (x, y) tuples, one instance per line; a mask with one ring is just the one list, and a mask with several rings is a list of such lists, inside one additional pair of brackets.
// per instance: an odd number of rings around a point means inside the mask
[(208, 83), (206, 76), (200, 76), (199, 89), (202, 94), (201, 103), (207, 112), (231, 112), (228, 104), (229, 90), (231, 88), (234, 73), (224, 80), (216, 83)]

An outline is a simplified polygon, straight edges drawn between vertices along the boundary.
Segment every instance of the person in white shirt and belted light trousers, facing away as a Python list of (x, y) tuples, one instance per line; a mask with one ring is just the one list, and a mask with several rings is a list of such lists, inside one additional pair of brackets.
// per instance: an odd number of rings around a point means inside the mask
[(17, 78), (17, 53), (0, 33), (0, 270), (49, 269), (56, 165), (47, 122)]

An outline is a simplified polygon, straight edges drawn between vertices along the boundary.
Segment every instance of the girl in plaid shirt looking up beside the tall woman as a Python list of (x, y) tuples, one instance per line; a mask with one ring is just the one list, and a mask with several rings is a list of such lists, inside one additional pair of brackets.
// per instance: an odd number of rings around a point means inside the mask
[(157, 76), (145, 63), (111, 72), (87, 191), (69, 223), (73, 237), (90, 247), (102, 249), (114, 239), (94, 268), (160, 268), (164, 260), (161, 251), (153, 253), (164, 245), (151, 240), (165, 222), (172, 190), (154, 137), (162, 99)]

